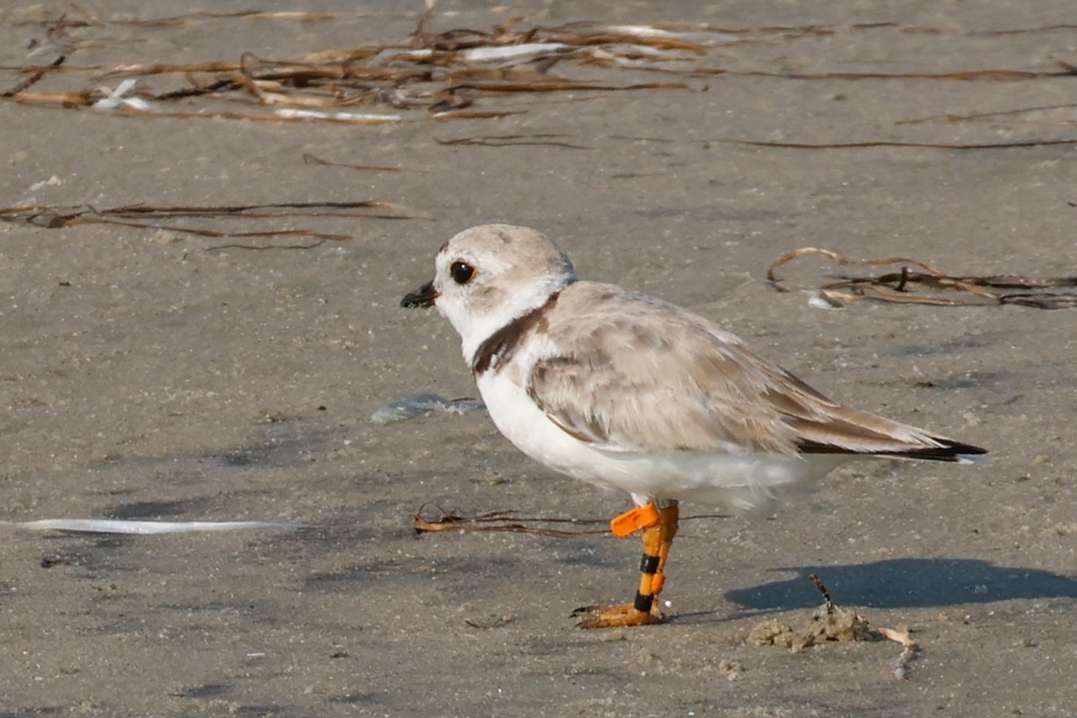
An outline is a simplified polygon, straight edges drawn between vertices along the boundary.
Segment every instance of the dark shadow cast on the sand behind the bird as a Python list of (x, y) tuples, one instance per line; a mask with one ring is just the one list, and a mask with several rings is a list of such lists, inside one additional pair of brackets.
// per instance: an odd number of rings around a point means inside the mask
[(795, 578), (727, 591), (753, 611), (814, 608), (822, 602), (809, 582), (819, 576), (839, 605), (932, 608), (1011, 599), (1077, 599), (1077, 580), (1037, 568), (997, 566), (973, 559), (894, 559), (875, 563), (775, 568)]

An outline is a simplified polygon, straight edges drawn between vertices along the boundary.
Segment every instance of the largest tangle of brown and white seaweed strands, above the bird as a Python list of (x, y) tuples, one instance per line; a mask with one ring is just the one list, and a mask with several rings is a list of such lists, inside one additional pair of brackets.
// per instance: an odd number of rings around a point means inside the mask
[[(429, 18), (431, 6), (424, 20)], [(61, 51), (52, 62), (0, 68), (24, 75), (0, 97), (41, 107), (113, 111), (142, 118), (244, 119), (250, 122), (323, 122), (346, 125), (438, 122), (503, 117), (519, 112), (493, 109), (460, 112), (479, 101), (503, 101), (510, 95), (536, 99), (551, 93), (607, 93), (683, 89), (682, 83), (589, 82), (553, 74), (554, 64), (623, 61), (631, 67), (658, 66), (705, 54), (674, 31), (624, 26), (576, 29), (517, 29), (509, 20), (490, 31), (453, 29), (428, 32), (420, 27), (407, 43), (382, 43), (318, 50), (299, 57), (265, 58), (243, 52), (237, 58), (193, 62), (114, 62), (80, 67), (70, 61), (86, 43), (59, 43), (59, 32), (89, 32), (110, 22), (89, 15), (72, 23), (61, 16), (45, 27), (51, 46)], [(156, 20), (116, 20), (152, 28), (256, 19), (331, 19), (323, 13), (191, 13)], [(698, 33), (697, 33), (698, 34)], [(61, 67), (62, 66), (62, 67)], [(81, 86), (70, 86), (74, 82)], [(83, 78), (81, 82), (79, 78)], [(43, 83), (43, 80), (50, 80)], [(101, 81), (121, 80), (115, 88)], [(47, 87), (44, 85), (48, 85)], [(179, 101), (182, 107), (177, 107)], [(239, 105), (239, 107), (237, 107)], [(358, 112), (352, 108), (414, 110), (410, 114)]]

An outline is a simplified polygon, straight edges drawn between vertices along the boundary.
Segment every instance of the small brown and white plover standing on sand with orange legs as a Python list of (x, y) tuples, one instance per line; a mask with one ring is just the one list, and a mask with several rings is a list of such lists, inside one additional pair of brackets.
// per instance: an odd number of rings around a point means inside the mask
[(987, 451), (831, 402), (685, 309), (576, 279), (527, 227), (472, 227), (404, 307), (437, 307), (460, 333), (493, 423), (523, 453), (623, 489), (643, 531), (635, 600), (579, 609), (584, 628), (655, 623), (677, 502), (765, 511), (855, 457), (967, 463)]

